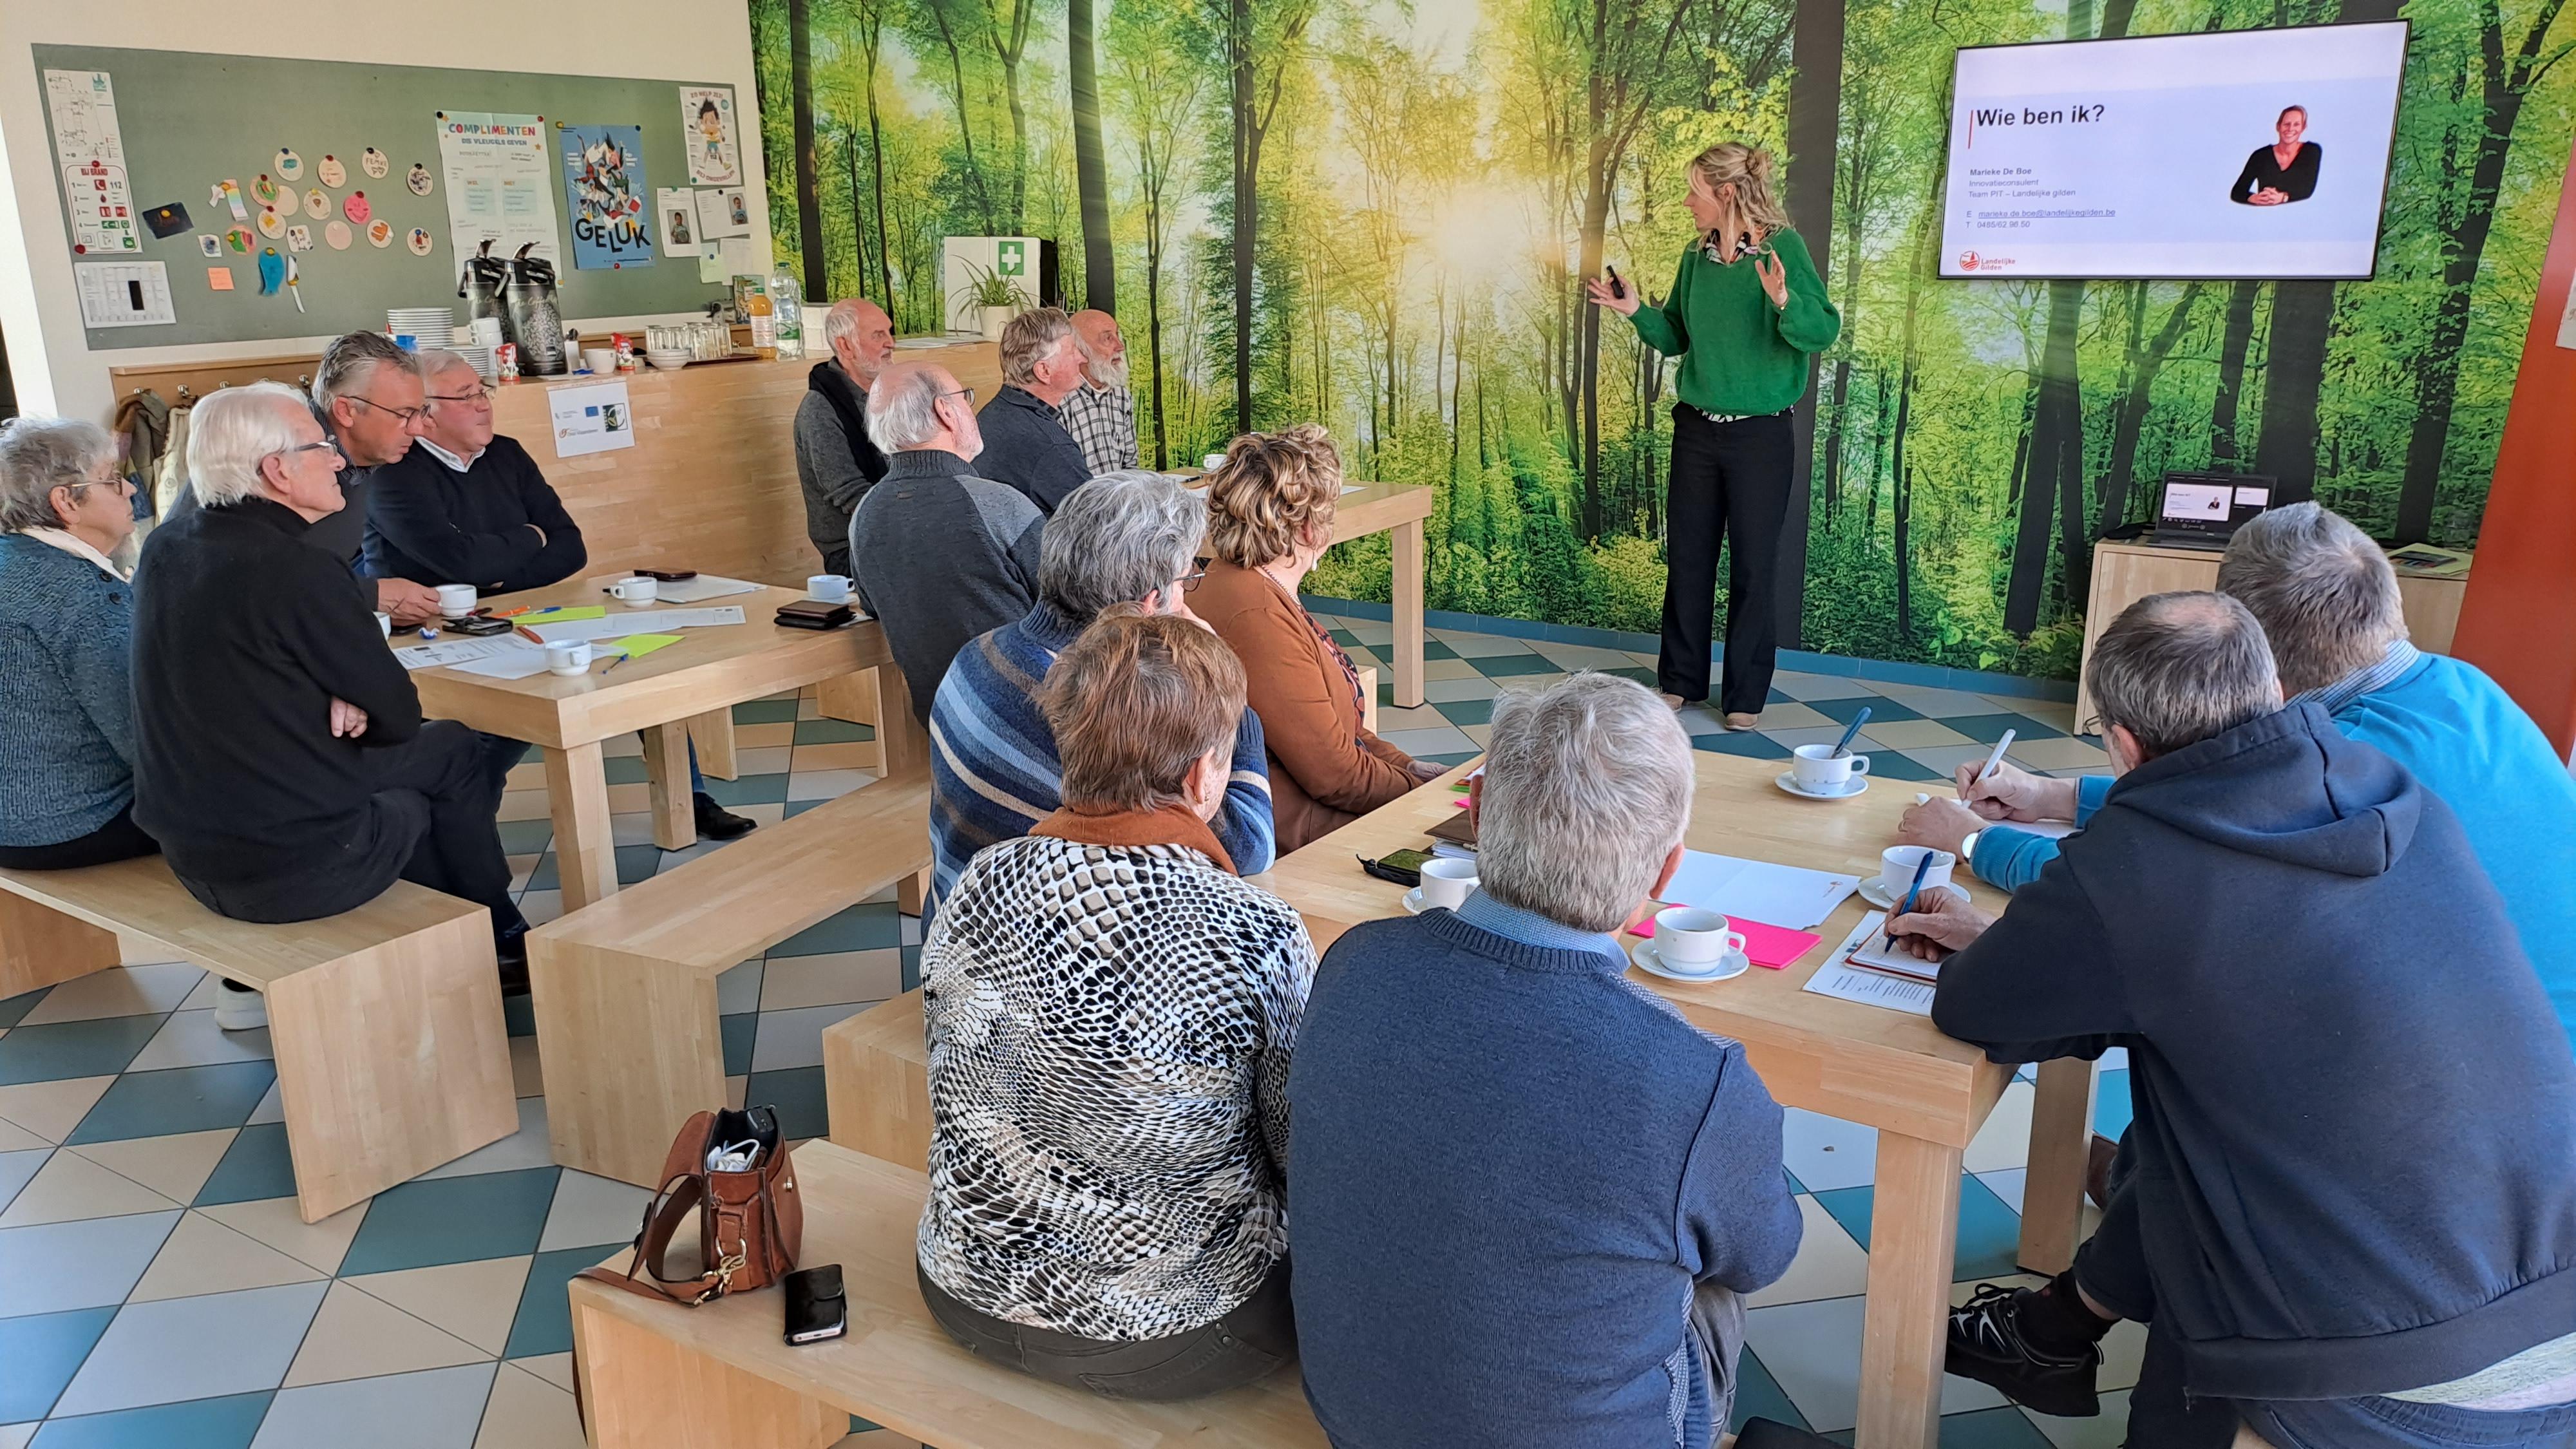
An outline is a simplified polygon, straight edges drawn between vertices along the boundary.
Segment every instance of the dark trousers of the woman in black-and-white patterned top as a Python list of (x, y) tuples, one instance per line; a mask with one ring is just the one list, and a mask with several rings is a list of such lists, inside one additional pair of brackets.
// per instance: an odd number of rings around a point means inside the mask
[(1177, 1400), (1213, 1395), (1270, 1377), (1296, 1359), (1296, 1312), (1288, 1307), (1288, 1261), (1280, 1258), (1262, 1287), (1216, 1323), (1144, 1338), (1103, 1343), (1048, 1328), (1025, 1328), (966, 1307), (922, 1279), (922, 1302), (969, 1354), (1023, 1374), (1090, 1390), (1103, 1397)]

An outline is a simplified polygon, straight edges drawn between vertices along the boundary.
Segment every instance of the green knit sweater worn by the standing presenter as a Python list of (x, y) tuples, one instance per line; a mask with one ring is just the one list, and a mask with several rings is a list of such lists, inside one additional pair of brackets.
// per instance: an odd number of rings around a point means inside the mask
[(1788, 268), (1788, 307), (1772, 307), (1754, 258), (1713, 263), (1700, 242), (1682, 253), (1662, 307), (1638, 307), (1636, 335), (1682, 358), (1682, 402), (1703, 413), (1780, 413), (1806, 392), (1806, 358), (1834, 345), (1842, 312), (1798, 232), (1772, 232), (1765, 253)]

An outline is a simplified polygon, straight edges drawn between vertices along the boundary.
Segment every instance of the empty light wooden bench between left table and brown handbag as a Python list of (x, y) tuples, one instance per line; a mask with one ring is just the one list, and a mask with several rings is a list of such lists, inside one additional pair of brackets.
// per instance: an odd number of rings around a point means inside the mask
[(920, 913), (930, 776), (855, 789), (528, 933), (546, 1127), (567, 1168), (659, 1186), (724, 1106), (716, 977), (889, 884)]

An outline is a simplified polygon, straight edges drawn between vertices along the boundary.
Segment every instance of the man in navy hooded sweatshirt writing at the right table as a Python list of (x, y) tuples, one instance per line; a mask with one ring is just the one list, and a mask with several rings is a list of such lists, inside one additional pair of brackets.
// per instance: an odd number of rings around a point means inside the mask
[(1981, 1289), (1950, 1369), (2084, 1413), (2117, 1315), (2141, 1446), (2576, 1441), (2576, 1057), (2458, 820), (2280, 709), (2228, 596), (2133, 603), (2092, 681), (2120, 779), (2087, 828), (2002, 920), (1893, 926), (1955, 951), (1932, 1021), (1989, 1057), (2128, 1049), (2128, 1248)]

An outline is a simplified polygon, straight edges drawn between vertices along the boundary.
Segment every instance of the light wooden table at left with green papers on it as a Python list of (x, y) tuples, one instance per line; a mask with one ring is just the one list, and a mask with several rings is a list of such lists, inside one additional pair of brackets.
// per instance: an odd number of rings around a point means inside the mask
[[(605, 603), (611, 616), (626, 606), (605, 598), (611, 578), (531, 588), (495, 596), (492, 608), (523, 603)], [(482, 678), (451, 668), (415, 670), (420, 709), (435, 719), (461, 719), (489, 735), (528, 740), (546, 750), (546, 802), (554, 810), (554, 853), (564, 882), (564, 910), (616, 895), (618, 866), (608, 825), (608, 766), (600, 743), (641, 732), (644, 763), (652, 773), (654, 843), (680, 851), (698, 841), (688, 794), (688, 737), (696, 722), (708, 735), (732, 730), (732, 706), (827, 678), (878, 670), (878, 691), (894, 701), (876, 724), (891, 768), (927, 768), (927, 740), (912, 719), (912, 696), (902, 670), (886, 652), (876, 621), (860, 621), (827, 634), (783, 629), (770, 621), (781, 603), (804, 598), (793, 588), (762, 585), (757, 593), (708, 598), (706, 603), (657, 603), (654, 608), (739, 606), (742, 624), (680, 629), (680, 642), (641, 660), (608, 670), (592, 663), (587, 676), (559, 678)], [(461, 634), (448, 634), (461, 637)], [(397, 634), (394, 645), (415, 642)]]

